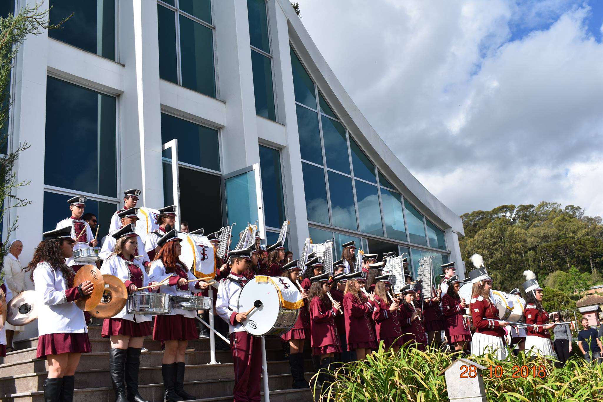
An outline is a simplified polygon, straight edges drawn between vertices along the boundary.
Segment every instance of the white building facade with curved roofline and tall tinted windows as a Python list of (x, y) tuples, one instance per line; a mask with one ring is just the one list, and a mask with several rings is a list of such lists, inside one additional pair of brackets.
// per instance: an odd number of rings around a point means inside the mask
[(380, 139), (288, 0), (42, 4), (51, 23), (74, 15), (28, 37), (11, 78), (8, 146), (30, 143), (17, 195), (33, 204), (2, 225), (18, 215), (24, 265), (67, 199), (89, 197), (101, 238), (130, 188), (206, 234), (258, 221), (271, 244), (289, 219), (295, 257), (310, 235), (335, 237), (338, 257), (350, 240), (408, 253), (414, 272), (429, 254), (461, 261), (461, 219)]

